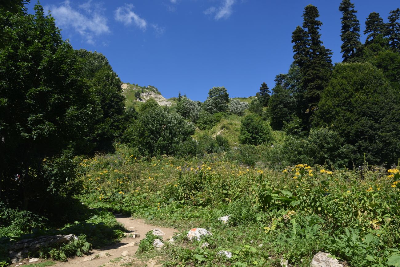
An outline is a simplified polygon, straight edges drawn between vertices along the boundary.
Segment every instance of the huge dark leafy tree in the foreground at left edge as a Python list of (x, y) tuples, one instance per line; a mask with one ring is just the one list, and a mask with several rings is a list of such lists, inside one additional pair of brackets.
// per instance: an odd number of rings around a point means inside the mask
[[(67, 147), (91, 151), (101, 119), (76, 53), (52, 16), (40, 5), (34, 10), (2, 14), (11, 39), (0, 54), (1, 197), (25, 208), (52, 193), (46, 191), (51, 181), (42, 175), (43, 159), (54, 159)], [(50, 177), (63, 171), (55, 168)]]

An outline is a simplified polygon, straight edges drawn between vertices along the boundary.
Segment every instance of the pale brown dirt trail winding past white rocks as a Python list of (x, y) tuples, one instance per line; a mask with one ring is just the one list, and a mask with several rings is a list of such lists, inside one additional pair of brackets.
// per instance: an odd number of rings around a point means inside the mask
[[(121, 246), (129, 244), (131, 242), (139, 242), (142, 240), (146, 233), (154, 228), (161, 229), (165, 234), (162, 235), (164, 241), (168, 240), (168, 237), (174, 235), (177, 230), (172, 228), (160, 227), (156, 225), (146, 224), (142, 219), (132, 219), (131, 217), (124, 217), (122, 215), (116, 215), (116, 219), (118, 222), (122, 223), (126, 228), (126, 233), (134, 234), (139, 233), (140, 237), (132, 238), (126, 237), (121, 241), (114, 243), (108, 247), (104, 247), (102, 249), (94, 249), (91, 251), (90, 255), (84, 257), (75, 257), (72, 259), (68, 259), (67, 262), (57, 262), (54, 267), (69, 267), (69, 266), (79, 266), (79, 267), (98, 267), (101, 265), (109, 266), (120, 266), (121, 263), (132, 263), (131, 266), (161, 266), (158, 264), (157, 259), (152, 259), (148, 262), (143, 262), (138, 260), (134, 257), (136, 251), (138, 250), (138, 245), (132, 247), (123, 247)], [(122, 257), (122, 251), (128, 251), (128, 255)], [(108, 253), (108, 257), (106, 257), (106, 253)], [(93, 258), (94, 255), (104, 255), (103, 257), (94, 257), (94, 259), (88, 260)], [(92, 257), (91, 257), (92, 256)], [(120, 262), (111, 263), (110, 260), (122, 257)]]

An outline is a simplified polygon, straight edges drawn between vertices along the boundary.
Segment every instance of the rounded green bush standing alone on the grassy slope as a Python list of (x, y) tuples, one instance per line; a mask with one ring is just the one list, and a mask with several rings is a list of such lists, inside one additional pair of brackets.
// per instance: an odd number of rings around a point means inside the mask
[(242, 144), (260, 145), (272, 139), (270, 126), (257, 114), (242, 119), (239, 140)]

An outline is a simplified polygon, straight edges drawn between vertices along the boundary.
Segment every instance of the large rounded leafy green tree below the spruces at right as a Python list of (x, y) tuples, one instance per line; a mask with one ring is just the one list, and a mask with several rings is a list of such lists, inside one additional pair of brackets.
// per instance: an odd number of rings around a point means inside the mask
[[(368, 63), (337, 64), (318, 106), (318, 124), (332, 126), (354, 146), (354, 163), (393, 163), (400, 157), (399, 94)], [(317, 123), (316, 123), (317, 124)]]

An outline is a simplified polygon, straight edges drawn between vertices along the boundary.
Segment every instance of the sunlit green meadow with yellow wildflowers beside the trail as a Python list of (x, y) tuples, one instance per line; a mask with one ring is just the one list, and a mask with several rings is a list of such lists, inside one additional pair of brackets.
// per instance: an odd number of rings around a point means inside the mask
[[(398, 266), (399, 167), (277, 170), (237, 164), (224, 153), (145, 160), (119, 145), (115, 154), (80, 159), (78, 170), (88, 207), (180, 230), (174, 245), (141, 249), (143, 257), (162, 255), (164, 266), (279, 266), (282, 257), (309, 266), (318, 251), (350, 266)], [(218, 221), (226, 215), (228, 223)], [(213, 235), (188, 242), (193, 227)], [(220, 250), (233, 257), (217, 256)]]

